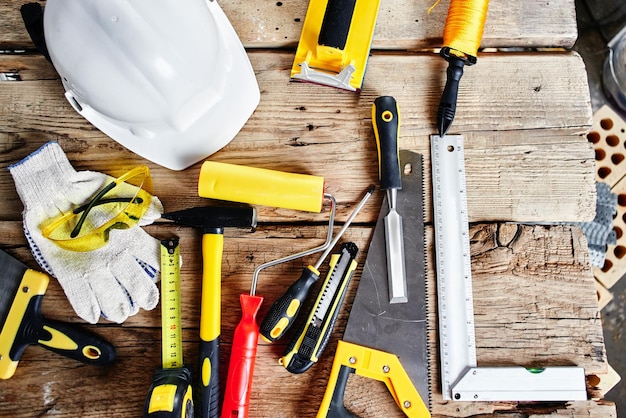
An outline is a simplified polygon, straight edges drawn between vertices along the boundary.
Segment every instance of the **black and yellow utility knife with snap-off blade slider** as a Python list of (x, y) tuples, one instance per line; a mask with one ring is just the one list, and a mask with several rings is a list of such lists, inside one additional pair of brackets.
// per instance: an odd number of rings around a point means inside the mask
[(353, 242), (341, 245), (330, 258), (328, 275), (306, 322), (292, 338), (279, 363), (291, 373), (304, 373), (322, 355), (333, 331), (339, 308), (354, 274), (359, 249)]

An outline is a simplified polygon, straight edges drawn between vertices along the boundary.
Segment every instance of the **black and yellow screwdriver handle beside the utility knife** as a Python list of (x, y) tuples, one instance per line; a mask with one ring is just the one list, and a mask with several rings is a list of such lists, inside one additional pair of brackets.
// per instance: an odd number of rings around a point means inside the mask
[(261, 323), (261, 336), (267, 342), (280, 339), (293, 325), (306, 300), (311, 286), (320, 278), (313, 266), (302, 270), (302, 275), (269, 309)]

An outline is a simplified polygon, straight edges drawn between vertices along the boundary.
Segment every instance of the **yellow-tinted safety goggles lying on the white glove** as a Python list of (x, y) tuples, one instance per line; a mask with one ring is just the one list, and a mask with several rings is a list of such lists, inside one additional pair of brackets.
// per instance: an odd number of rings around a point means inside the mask
[(77, 252), (103, 247), (112, 229), (139, 222), (152, 202), (152, 178), (146, 166), (135, 167), (108, 183), (85, 204), (40, 225), (42, 235)]

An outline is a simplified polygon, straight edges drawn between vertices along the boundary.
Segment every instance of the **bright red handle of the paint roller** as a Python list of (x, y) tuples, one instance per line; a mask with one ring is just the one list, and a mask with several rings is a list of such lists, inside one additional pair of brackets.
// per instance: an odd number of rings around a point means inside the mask
[(240, 296), (240, 302), (241, 321), (233, 336), (222, 418), (245, 418), (250, 408), (252, 377), (259, 342), (256, 315), (263, 298), (244, 294)]

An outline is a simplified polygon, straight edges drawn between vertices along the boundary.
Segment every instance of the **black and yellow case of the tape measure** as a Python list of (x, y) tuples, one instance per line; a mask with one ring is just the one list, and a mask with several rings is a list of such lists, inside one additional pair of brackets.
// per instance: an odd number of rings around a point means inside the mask
[(187, 367), (154, 372), (143, 418), (193, 418), (191, 371)]

